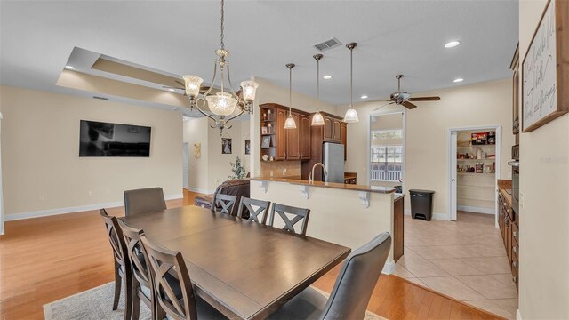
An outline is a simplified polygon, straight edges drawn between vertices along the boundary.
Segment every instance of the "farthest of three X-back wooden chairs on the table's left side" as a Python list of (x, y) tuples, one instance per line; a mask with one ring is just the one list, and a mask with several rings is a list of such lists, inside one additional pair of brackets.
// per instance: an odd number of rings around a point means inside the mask
[(113, 300), (113, 310), (118, 308), (121, 286), (124, 282), (124, 320), (131, 320), (132, 269), (128, 259), (126, 244), (124, 244), (123, 231), (119, 227), (116, 217), (109, 216), (105, 209), (100, 209), (100, 216), (105, 221), (108, 241), (113, 248), (113, 256), (115, 258), (115, 299)]

